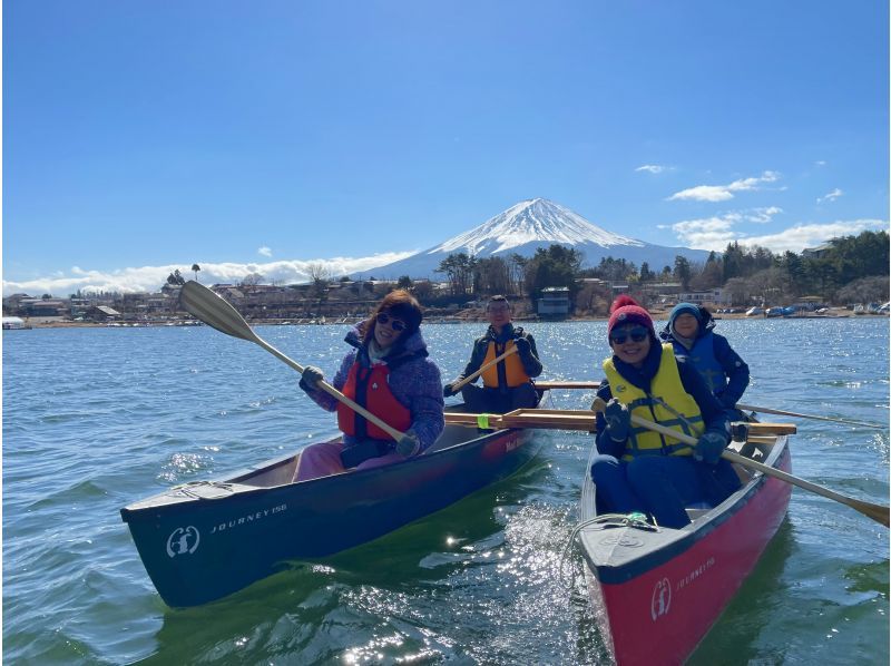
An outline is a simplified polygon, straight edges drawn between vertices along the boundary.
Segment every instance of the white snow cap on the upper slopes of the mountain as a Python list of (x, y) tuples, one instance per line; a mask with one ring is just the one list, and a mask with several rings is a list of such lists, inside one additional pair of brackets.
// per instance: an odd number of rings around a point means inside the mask
[(601, 229), (565, 206), (535, 198), (515, 204), (480, 226), (428, 251), (428, 254), (466, 252), (472, 256), (490, 256), (527, 243), (595, 244), (601, 247), (644, 245), (640, 241)]

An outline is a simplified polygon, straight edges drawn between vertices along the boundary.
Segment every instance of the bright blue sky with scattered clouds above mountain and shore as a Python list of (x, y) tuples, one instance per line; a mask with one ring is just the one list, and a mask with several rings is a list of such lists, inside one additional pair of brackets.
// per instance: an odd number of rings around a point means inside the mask
[(874, 0), (7, 0), (3, 292), (291, 282), (539, 196), (659, 245), (887, 229), (888, 29)]

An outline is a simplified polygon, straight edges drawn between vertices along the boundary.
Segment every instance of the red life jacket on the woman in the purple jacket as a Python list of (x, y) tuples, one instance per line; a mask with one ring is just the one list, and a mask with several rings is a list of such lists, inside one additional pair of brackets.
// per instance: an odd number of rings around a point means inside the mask
[[(376, 363), (371, 368), (353, 363), (342, 393), (391, 428), (405, 432), (411, 428), (411, 412), (390, 391), (389, 376), (390, 366), (385, 363)], [(386, 432), (342, 402), (337, 403), (337, 427), (344, 434), (359, 439), (393, 440)]]

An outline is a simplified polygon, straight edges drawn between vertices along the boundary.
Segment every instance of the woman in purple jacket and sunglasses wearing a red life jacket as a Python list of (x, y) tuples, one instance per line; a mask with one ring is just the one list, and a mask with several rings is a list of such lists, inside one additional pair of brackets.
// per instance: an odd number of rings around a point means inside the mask
[(420, 325), (423, 313), (404, 290), (390, 292), (372, 313), (346, 334), (355, 347), (341, 362), (333, 385), (368, 411), (404, 432), (394, 441), (319, 388), (319, 368), (303, 371), (300, 386), (322, 409), (337, 412), (343, 441), (306, 447), (297, 462), (295, 481), (400, 462), (427, 450), (442, 432), (442, 381), (428, 358)]

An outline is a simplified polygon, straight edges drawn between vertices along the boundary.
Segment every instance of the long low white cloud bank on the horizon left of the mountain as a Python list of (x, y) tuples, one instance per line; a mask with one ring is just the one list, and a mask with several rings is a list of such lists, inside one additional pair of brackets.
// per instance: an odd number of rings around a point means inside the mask
[[(248, 273), (260, 273), (266, 282), (281, 282), (283, 284), (294, 284), (307, 282), (310, 280), (309, 266), (311, 264), (322, 264), (334, 277), (369, 271), (379, 266), (384, 266), (399, 259), (404, 259), (417, 249), (410, 252), (392, 252), (375, 254), (368, 257), (334, 257), (330, 259), (295, 259), (268, 262), (265, 264), (238, 264), (222, 263), (212, 264), (202, 262), (198, 280), (204, 284), (215, 283), (237, 283)], [(140, 266), (134, 268), (119, 268), (111, 272), (85, 271), (79, 266), (72, 266), (68, 273), (57, 272), (47, 277), (38, 277), (28, 281), (3, 281), (3, 295), (27, 293), (30, 295), (52, 294), (53, 296), (67, 296), (78, 290), (84, 292), (157, 292), (166, 282), (167, 276), (175, 270), (185, 277), (190, 277), (189, 267), (192, 262), (183, 264), (167, 264), (164, 266)]]

